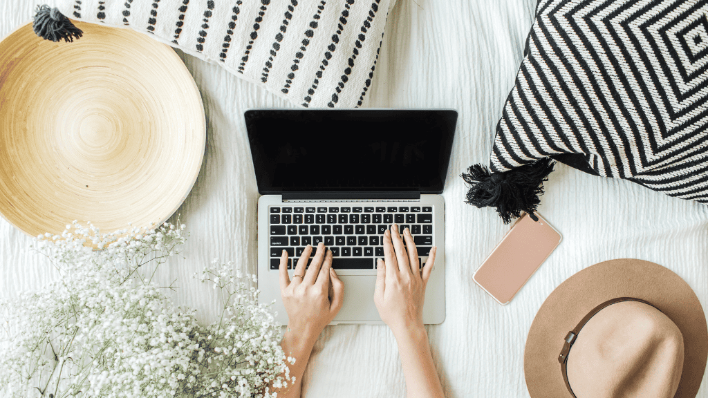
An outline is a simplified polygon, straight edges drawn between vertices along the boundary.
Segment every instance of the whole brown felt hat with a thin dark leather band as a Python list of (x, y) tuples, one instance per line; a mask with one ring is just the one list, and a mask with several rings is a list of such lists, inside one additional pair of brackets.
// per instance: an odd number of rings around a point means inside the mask
[(624, 258), (549, 295), (529, 330), (524, 373), (532, 398), (694, 398), (707, 358), (705, 314), (690, 286), (668, 268)]

